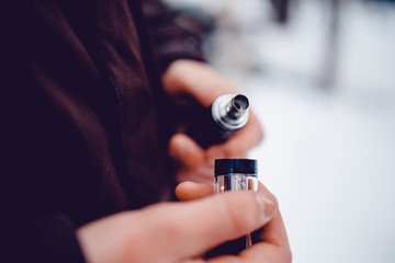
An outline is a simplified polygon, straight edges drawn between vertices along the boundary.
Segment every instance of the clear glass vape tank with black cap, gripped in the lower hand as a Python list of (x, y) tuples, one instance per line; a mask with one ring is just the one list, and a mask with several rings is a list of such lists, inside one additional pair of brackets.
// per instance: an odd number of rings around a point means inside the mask
[[(258, 162), (251, 159), (215, 160), (214, 192), (258, 191)], [(232, 249), (240, 252), (252, 245), (251, 235), (242, 240), (235, 240)]]

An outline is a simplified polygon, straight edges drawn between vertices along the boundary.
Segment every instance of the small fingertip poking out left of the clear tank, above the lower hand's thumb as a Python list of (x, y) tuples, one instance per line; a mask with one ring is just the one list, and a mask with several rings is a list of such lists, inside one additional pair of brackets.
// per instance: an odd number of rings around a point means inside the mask
[(177, 185), (176, 195), (180, 201), (194, 201), (214, 193), (213, 185), (193, 182), (183, 182)]

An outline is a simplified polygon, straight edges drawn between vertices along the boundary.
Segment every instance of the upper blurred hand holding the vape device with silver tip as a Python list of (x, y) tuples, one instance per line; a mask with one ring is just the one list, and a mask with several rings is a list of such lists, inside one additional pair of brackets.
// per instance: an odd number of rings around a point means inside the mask
[[(170, 65), (162, 83), (167, 93), (179, 104), (189, 98), (208, 107), (225, 93), (240, 93), (224, 76), (206, 64), (180, 59)], [(176, 134), (169, 141), (169, 155), (180, 163), (178, 182), (212, 183), (214, 159), (245, 158), (262, 140), (261, 126), (252, 112), (246, 127), (227, 141), (203, 149), (185, 134)]]

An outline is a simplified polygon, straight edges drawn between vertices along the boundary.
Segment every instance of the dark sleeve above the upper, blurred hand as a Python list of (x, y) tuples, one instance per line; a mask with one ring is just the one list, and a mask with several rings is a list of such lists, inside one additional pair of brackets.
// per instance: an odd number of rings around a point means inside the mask
[(210, 18), (172, 10), (159, 0), (143, 1), (143, 11), (162, 71), (177, 59), (205, 60), (203, 39), (213, 28)]

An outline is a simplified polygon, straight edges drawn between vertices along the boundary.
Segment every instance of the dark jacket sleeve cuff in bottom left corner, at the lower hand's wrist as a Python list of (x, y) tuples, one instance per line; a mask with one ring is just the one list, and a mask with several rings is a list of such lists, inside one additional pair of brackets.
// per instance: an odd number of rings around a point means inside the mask
[(2, 224), (4, 262), (82, 263), (75, 228), (65, 216)]

